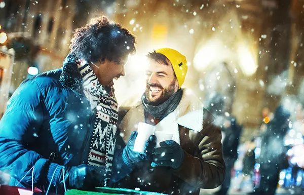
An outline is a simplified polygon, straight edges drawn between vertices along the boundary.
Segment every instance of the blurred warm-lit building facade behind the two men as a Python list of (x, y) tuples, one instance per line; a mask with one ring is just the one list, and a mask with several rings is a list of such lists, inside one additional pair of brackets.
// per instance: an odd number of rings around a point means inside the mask
[[(274, 110), (282, 99), (301, 101), (299, 94), (304, 95), (303, 0), (0, 2), (6, 4), (0, 8), (4, 29), (27, 32), (40, 47), (32, 60), (40, 71), (61, 67), (73, 29), (106, 15), (137, 36), (138, 55), (159, 47), (184, 53), (190, 65), (185, 87), (202, 102), (219, 92), (226, 100), (223, 114), (235, 115), (247, 132), (262, 123), (263, 107)], [(131, 60), (117, 85), (118, 98), (126, 98), (124, 90), (131, 86), (143, 86), (141, 60)], [(18, 69), (24, 67), (21, 61)], [(15, 76), (15, 87), (24, 76)]]

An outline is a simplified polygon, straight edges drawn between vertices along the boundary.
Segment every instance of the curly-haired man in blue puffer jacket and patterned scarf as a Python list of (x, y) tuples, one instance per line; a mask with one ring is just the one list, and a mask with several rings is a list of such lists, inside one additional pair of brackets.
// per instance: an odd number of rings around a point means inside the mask
[[(129, 143), (118, 149), (113, 79), (125, 75), (135, 37), (106, 17), (76, 29), (61, 69), (25, 80), (0, 121), (0, 170), (10, 185), (94, 190), (110, 186), (147, 158)], [(55, 154), (51, 158), (50, 154)], [(55, 187), (53, 187), (55, 186)]]

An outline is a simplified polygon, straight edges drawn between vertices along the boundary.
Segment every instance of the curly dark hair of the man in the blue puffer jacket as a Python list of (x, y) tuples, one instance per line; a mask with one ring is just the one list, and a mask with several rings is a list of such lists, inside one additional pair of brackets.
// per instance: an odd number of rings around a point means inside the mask
[(71, 53), (87, 61), (119, 61), (136, 52), (135, 44), (136, 37), (129, 30), (101, 16), (75, 29), (69, 47)]

